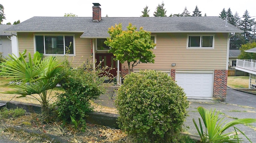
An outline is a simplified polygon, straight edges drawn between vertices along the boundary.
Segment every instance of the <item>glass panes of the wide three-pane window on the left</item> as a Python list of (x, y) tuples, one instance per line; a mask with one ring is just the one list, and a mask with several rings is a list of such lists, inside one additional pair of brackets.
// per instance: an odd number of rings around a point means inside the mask
[(73, 35), (35, 35), (35, 45), (36, 51), (49, 55), (65, 55), (70, 46), (68, 54), (74, 55)]

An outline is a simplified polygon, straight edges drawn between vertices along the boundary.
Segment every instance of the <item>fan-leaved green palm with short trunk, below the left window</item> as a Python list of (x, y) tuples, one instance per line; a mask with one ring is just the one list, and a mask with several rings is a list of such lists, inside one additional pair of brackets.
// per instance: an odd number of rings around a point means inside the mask
[[(47, 96), (47, 92), (48, 90), (52, 92), (52, 89), (60, 82), (61, 78), (57, 78), (56, 75), (63, 67), (56, 57), (49, 56), (41, 60), (38, 52), (34, 54), (34, 59), (28, 53), (27, 62), (24, 53), (19, 53), (20, 57), (9, 54), (8, 59), (2, 65), (2, 76), (8, 77), (8, 81), (20, 82), (20, 84), (13, 84), (13, 90), (5, 93), (20, 94), (19, 97), (30, 96), (38, 100), (42, 104), (42, 112), (47, 113), (51, 99), (50, 95)], [(38, 94), (40, 98), (34, 94)]]

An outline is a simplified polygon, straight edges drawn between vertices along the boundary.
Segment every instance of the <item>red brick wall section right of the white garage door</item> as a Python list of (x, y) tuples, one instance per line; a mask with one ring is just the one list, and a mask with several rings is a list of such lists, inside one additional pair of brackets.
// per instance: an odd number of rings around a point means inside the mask
[(228, 70), (214, 70), (213, 98), (226, 99), (227, 82)]

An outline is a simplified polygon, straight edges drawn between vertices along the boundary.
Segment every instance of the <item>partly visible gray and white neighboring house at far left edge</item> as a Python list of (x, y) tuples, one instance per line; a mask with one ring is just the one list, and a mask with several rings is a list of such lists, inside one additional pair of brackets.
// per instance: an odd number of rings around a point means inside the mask
[(12, 53), (18, 55), (16, 32), (4, 32), (5, 29), (12, 26), (13, 25), (0, 24), (0, 52), (4, 57)]

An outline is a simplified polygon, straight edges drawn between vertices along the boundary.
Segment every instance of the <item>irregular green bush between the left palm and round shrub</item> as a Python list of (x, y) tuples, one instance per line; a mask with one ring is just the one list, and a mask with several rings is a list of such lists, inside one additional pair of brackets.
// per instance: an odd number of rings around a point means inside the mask
[(91, 70), (90, 66), (72, 69), (69, 66), (62, 72), (63, 80), (60, 82), (64, 93), (57, 95), (57, 113), (60, 120), (73, 123), (74, 127), (86, 127), (86, 113), (93, 110), (91, 99), (97, 99), (105, 88), (104, 77), (99, 76), (104, 68)]

